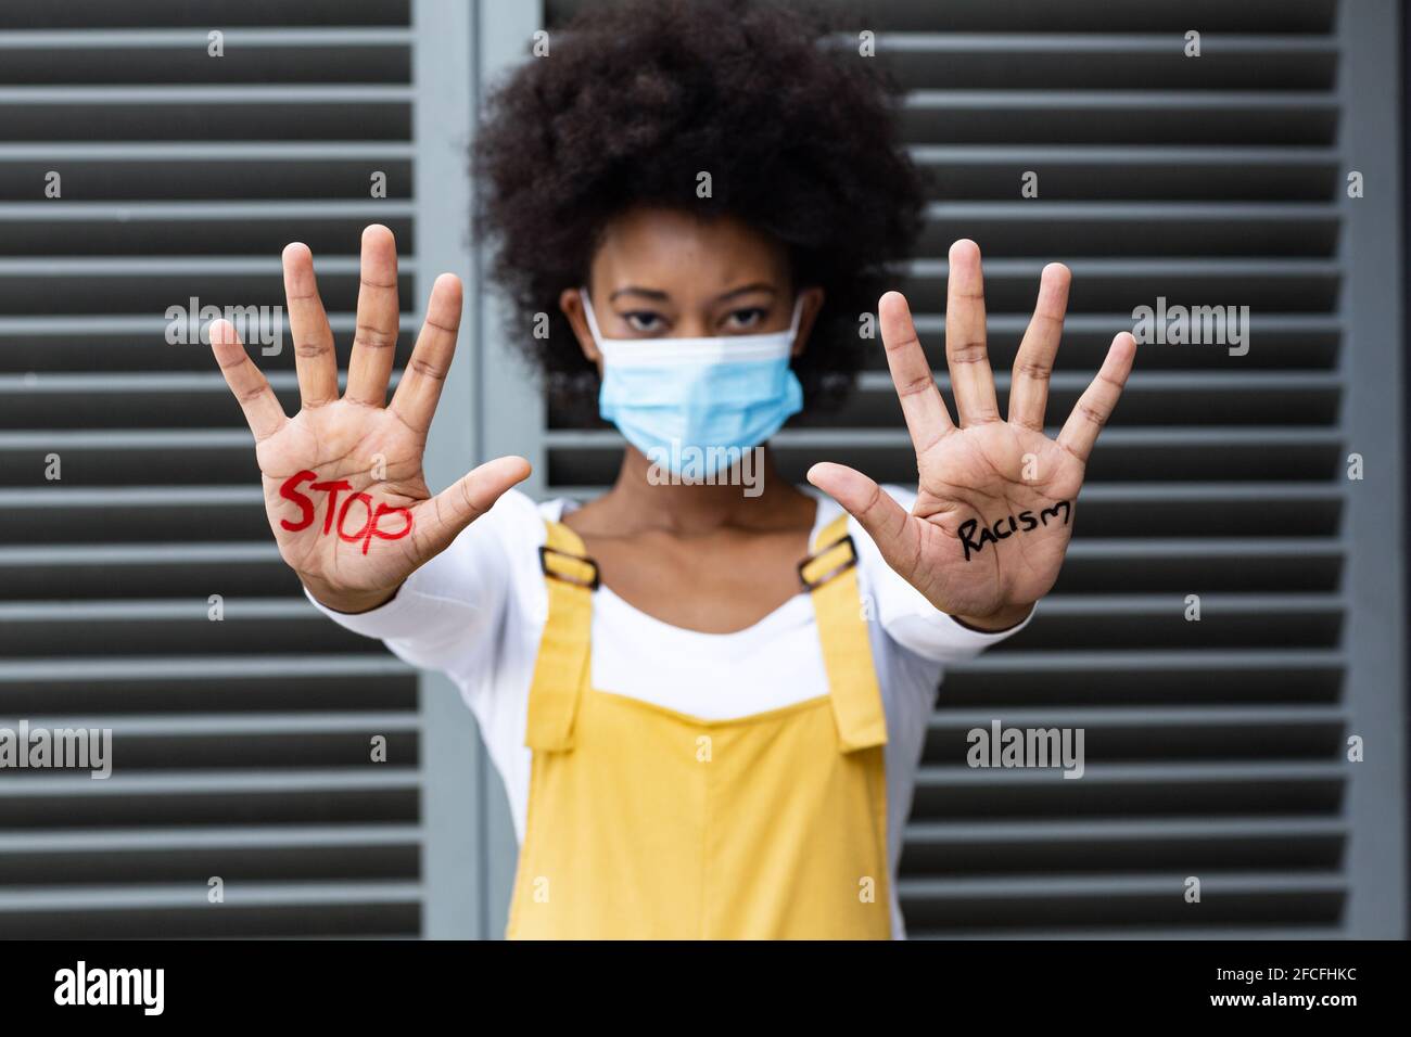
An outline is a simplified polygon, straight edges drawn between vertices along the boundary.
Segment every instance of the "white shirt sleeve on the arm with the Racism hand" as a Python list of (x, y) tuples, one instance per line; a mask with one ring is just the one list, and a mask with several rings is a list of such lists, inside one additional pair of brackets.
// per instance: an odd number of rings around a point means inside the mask
[[(890, 494), (907, 511), (916, 504), (914, 491), (899, 485), (885, 485), (882, 491)], [(872, 538), (858, 525), (856, 519), (849, 519), (848, 532), (852, 533), (852, 540), (858, 546), (858, 563), (866, 574), (878, 621), (893, 641), (923, 659), (941, 663), (972, 659), (991, 645), (998, 645), (1019, 633), (1038, 611), (1036, 605), (1017, 626), (995, 633), (962, 626), (935, 608), (926, 600), (924, 594), (886, 563), (882, 552), (872, 543)]]

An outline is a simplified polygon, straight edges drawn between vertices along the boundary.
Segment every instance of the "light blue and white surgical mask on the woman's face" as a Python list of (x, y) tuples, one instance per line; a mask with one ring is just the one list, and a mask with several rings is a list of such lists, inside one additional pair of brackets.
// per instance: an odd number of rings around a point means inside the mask
[(604, 339), (588, 289), (579, 293), (602, 353), (598, 409), (655, 464), (714, 475), (803, 409), (803, 387), (789, 368), (803, 296), (787, 332)]

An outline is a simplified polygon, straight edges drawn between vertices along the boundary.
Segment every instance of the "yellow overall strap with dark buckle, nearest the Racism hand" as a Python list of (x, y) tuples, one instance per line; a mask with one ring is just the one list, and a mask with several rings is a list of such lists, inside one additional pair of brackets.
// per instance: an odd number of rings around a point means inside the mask
[(872, 665), (868, 624), (862, 615), (858, 553), (848, 535), (847, 512), (820, 530), (813, 554), (799, 563), (799, 577), (813, 598), (832, 718), (842, 751), (885, 745), (886, 714)]

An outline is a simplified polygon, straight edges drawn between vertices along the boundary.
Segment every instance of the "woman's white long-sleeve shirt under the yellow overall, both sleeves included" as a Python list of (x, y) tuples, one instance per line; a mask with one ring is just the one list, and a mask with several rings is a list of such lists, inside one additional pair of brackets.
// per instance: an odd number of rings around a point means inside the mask
[[(914, 494), (885, 490), (910, 509)], [(841, 511), (831, 498), (814, 497), (810, 543)], [(521, 842), (529, 803), (529, 684), (549, 614), (539, 566), (543, 519), (556, 521), (576, 507), (564, 498), (536, 505), (511, 490), (380, 608), (349, 615), (309, 595), (347, 629), (381, 638), (406, 662), (450, 676), (504, 780)], [(1029, 619), (1002, 633), (967, 629), (897, 576), (855, 519), (848, 532), (858, 550), (858, 588), (871, 605), (865, 614), (875, 618), (868, 628), (886, 712), (892, 928), (900, 937), (896, 869), (943, 667), (1016, 633)], [(706, 720), (746, 717), (828, 691), (813, 601), (804, 593), (748, 629), (700, 633), (638, 611), (604, 584), (593, 600), (591, 667), (595, 689)]]

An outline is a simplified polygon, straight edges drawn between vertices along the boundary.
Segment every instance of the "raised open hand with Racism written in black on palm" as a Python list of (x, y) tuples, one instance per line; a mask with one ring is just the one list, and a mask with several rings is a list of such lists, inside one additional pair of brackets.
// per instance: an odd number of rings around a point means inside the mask
[(907, 514), (875, 481), (841, 464), (816, 464), (809, 481), (851, 512), (907, 583), (938, 610), (998, 629), (1027, 615), (1062, 564), (1088, 454), (1132, 371), (1136, 340), (1108, 350), (1057, 439), (1044, 436), (1048, 377), (1071, 275), (1044, 268), (1000, 418), (985, 348), (985, 285), (974, 241), (951, 245), (945, 361), (959, 413), (951, 422), (899, 292), (878, 303), (888, 367), (916, 447), (919, 488)]

